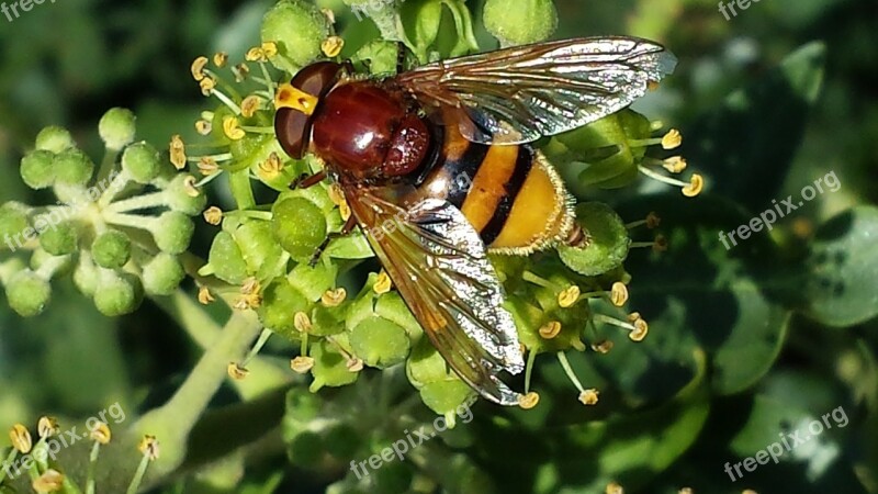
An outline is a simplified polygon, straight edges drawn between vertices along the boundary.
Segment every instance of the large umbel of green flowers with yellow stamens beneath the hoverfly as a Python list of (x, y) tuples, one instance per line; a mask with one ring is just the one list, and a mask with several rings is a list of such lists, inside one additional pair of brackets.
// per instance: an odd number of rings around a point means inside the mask
[[(350, 55), (354, 66), (373, 76), (394, 70), (396, 43), (391, 41), (402, 42), (421, 61), (475, 49), (469, 47), (472, 20), (463, 2), (346, 3), (371, 15), (382, 31), (384, 40), (367, 43)], [(498, 3), (506, 9), (504, 15), (498, 14)], [(487, 27), (504, 44), (538, 42), (551, 35), (556, 22), (552, 2), (513, 4), (488, 1), (485, 7)], [(449, 53), (437, 47), (442, 5), (460, 21), (455, 23), (457, 43), (451, 44)], [(405, 27), (405, 16), (399, 12), (407, 8), (418, 13), (415, 31), (394, 27)], [(393, 22), (387, 22), (387, 16)], [(417, 34), (413, 36), (412, 32)], [(192, 64), (192, 76), (202, 92), (216, 102), (195, 123), (213, 150), (189, 156), (178, 137), (170, 146), (175, 164), (196, 164), (202, 175), (199, 187), (225, 176), (236, 201), (233, 211), (211, 206), (205, 212), (205, 220), (219, 231), (200, 274), (237, 287), (232, 302), (235, 308), (256, 311), (267, 328), (295, 341), (300, 355), (291, 367), (312, 375), (312, 391), (350, 384), (364, 368), (385, 369), (406, 362), (409, 381), (424, 402), (439, 414), (450, 414), (471, 391), (423, 338), (386, 273), (375, 266), (376, 271), (364, 281), (349, 276), (351, 267), (373, 257), (362, 234), (334, 240), (316, 267), (307, 262), (327, 234), (339, 232), (351, 213), (337, 186), (289, 189), (293, 179), (319, 171), (322, 164), (312, 156), (290, 159), (274, 138), (274, 81), (289, 80), (316, 59), (339, 59), (345, 41), (335, 33), (334, 15), (311, 2), (281, 1), (266, 14), (261, 34), (261, 44), (248, 50), (238, 65), (229, 63), (224, 53), (199, 57)], [(646, 117), (624, 110), (551, 139), (544, 151), (559, 167), (586, 164), (578, 177), (583, 184), (620, 188), (648, 175), (680, 187), (686, 195), (696, 195), (702, 186), (698, 176), (686, 183), (657, 171), (682, 172), (686, 168), (683, 158), (648, 156), (650, 147), (674, 149), (680, 144), (676, 131), (654, 136), (658, 128)], [(256, 181), (278, 192), (273, 202), (256, 202)], [(622, 262), (632, 247), (663, 247), (661, 238), (634, 243), (629, 236), (637, 226), (654, 227), (657, 218), (651, 215), (626, 224), (600, 203), (579, 204), (577, 216), (593, 237), (587, 248), (562, 247), (558, 252), (531, 258), (493, 259), (506, 288), (507, 306), (518, 325), (522, 350), (530, 356), (529, 366), (538, 353), (589, 348), (608, 351), (610, 345), (599, 336), (598, 325), (623, 328), (634, 341), (646, 335), (643, 318), (622, 308), (629, 281)], [(342, 282), (359, 288), (349, 294)], [(213, 296), (203, 289), (201, 299), (207, 302)], [(572, 373), (571, 379), (582, 402), (596, 402), (594, 390), (583, 386)], [(533, 406), (537, 400), (538, 395), (530, 393), (522, 406)]]

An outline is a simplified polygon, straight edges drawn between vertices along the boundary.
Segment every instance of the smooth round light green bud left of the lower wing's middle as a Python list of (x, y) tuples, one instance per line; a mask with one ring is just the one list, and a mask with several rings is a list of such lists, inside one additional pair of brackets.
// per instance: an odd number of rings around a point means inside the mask
[(353, 352), (367, 366), (379, 369), (402, 362), (412, 349), (406, 330), (379, 316), (360, 322), (351, 329), (349, 338)]

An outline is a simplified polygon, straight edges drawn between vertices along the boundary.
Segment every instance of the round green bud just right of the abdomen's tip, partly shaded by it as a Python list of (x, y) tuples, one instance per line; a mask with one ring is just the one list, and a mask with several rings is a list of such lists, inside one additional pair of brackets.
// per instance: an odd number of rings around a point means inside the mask
[(622, 218), (606, 204), (587, 202), (576, 206), (576, 221), (587, 228), (592, 239), (584, 248), (559, 246), (558, 252), (564, 265), (586, 277), (603, 274), (621, 266), (631, 246)]

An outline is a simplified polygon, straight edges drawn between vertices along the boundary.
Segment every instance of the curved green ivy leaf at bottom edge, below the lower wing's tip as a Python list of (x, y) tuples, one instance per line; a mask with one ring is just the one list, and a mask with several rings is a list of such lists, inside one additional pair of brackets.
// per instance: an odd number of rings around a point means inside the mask
[[(549, 423), (536, 429), (514, 420), (480, 424), (483, 427), (474, 431), (481, 435), (476, 444), (483, 448), (477, 463), (503, 472), (495, 475), (504, 487), (497, 492), (592, 493), (603, 492), (610, 482), (643, 486), (691, 446), (707, 419), (707, 361), (699, 351), (693, 360), (697, 370), (691, 381), (658, 406), (573, 425)], [(574, 398), (571, 402), (559, 407), (576, 408), (582, 415), (594, 411)], [(541, 403), (533, 411), (514, 411), (511, 415), (539, 413), (547, 405), (551, 406)], [(611, 409), (614, 405), (601, 407)]]

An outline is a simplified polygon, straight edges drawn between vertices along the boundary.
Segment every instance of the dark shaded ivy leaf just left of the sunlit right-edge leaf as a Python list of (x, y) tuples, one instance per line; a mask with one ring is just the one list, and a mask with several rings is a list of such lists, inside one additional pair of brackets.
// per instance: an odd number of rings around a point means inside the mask
[[(786, 278), (775, 266), (776, 248), (765, 233), (738, 246), (727, 239), (729, 249), (723, 245), (722, 232), (748, 221), (739, 206), (705, 195), (683, 205), (680, 201), (676, 194), (660, 195), (620, 209), (622, 217), (657, 212), (658, 232), (669, 244), (666, 252), (629, 256), (626, 269), (637, 273), (630, 306), (643, 314), (652, 333), (690, 334), (691, 345), (711, 359), (714, 392), (736, 393), (764, 375), (780, 351), (789, 310), (767, 288)], [(634, 239), (639, 233), (649, 235), (641, 232), (633, 232)], [(651, 339), (641, 345), (657, 344)]]

